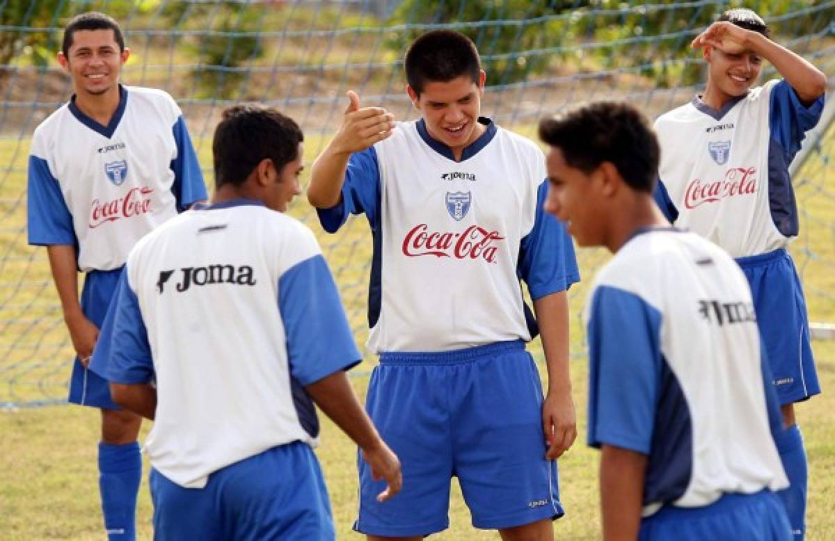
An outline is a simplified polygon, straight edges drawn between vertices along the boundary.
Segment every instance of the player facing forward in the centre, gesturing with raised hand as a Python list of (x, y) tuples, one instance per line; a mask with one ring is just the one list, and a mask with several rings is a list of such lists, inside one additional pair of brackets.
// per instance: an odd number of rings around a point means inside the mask
[[(456, 476), (474, 527), (552, 538), (564, 513), (554, 459), (576, 436), (566, 300), (579, 280), (574, 248), (542, 211), (542, 152), (479, 116), (485, 73), (473, 42), (426, 33), (405, 68), (421, 118), (394, 124), (348, 93), (307, 192), (325, 230), (361, 213), (372, 230), (368, 347), (380, 364), (366, 407), (402, 461), (404, 488), (377, 503), (379, 483), (361, 461), (354, 528), (371, 539), (448, 528)], [(544, 400), (524, 349), (537, 324)]]

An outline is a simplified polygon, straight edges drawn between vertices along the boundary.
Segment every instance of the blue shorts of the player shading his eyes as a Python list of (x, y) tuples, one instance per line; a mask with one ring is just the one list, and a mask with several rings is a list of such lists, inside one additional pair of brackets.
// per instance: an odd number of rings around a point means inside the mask
[(781, 249), (740, 257), (736, 262), (751, 285), (757, 323), (780, 404), (800, 402), (820, 393), (806, 299), (792, 256)]

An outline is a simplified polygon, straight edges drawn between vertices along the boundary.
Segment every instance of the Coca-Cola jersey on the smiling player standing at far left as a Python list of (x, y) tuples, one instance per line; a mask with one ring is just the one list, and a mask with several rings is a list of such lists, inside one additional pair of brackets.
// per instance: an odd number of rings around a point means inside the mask
[(29, 157), (29, 243), (78, 245), (78, 268), (124, 265), (143, 235), (205, 200), (180, 108), (153, 88), (119, 87), (108, 126), (74, 99), (35, 130)]

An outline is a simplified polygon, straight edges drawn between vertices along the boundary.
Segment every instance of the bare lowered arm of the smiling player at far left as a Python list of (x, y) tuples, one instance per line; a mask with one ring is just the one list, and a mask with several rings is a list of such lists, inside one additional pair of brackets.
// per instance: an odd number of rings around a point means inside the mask
[(93, 348), (99, 338), (99, 327), (89, 321), (78, 303), (78, 269), (75, 246), (47, 246), (49, 269), (52, 270), (55, 289), (61, 301), (63, 321), (67, 325), (69, 337), (73, 341), (78, 359), (87, 367)]

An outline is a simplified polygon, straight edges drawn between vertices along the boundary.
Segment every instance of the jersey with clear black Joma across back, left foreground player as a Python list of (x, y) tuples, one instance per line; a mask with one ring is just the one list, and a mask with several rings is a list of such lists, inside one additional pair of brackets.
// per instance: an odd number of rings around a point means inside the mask
[(272, 447), (316, 445), (303, 387), (361, 358), (311, 231), (251, 201), (190, 210), (145, 236), (115, 302), (99, 338), (108, 362), (97, 351), (92, 369), (156, 382), (145, 452), (185, 488)]

